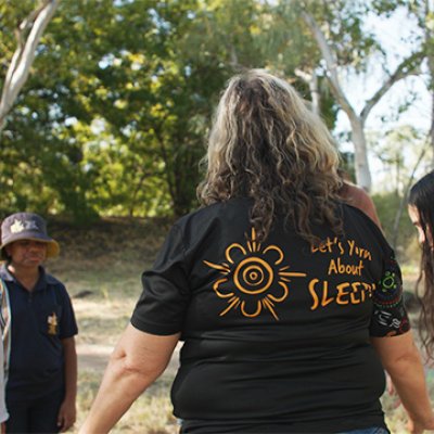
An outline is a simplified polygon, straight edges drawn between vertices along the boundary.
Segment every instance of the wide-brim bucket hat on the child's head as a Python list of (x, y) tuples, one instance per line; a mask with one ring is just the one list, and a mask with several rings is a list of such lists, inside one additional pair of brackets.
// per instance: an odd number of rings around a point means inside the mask
[(30, 240), (47, 243), (47, 257), (59, 255), (59, 243), (47, 233), (46, 220), (33, 213), (16, 213), (1, 224), (0, 256), (7, 259), (4, 247), (15, 241)]

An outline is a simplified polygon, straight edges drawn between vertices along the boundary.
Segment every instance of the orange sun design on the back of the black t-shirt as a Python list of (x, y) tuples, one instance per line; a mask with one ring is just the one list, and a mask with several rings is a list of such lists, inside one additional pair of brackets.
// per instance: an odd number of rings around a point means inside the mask
[[(239, 256), (241, 254), (241, 259), (233, 258), (235, 251)], [(288, 297), (290, 278), (306, 277), (305, 272), (288, 271), (289, 266), (281, 267), (284, 259), (282, 250), (277, 245), (263, 248), (256, 241), (254, 228), (246, 246), (233, 243), (226, 248), (225, 256), (227, 261), (221, 264), (204, 260), (205, 265), (224, 275), (213, 285), (214, 292), (228, 302), (220, 316), (240, 308), (244, 317), (255, 318), (267, 309), (279, 320), (276, 304)]]

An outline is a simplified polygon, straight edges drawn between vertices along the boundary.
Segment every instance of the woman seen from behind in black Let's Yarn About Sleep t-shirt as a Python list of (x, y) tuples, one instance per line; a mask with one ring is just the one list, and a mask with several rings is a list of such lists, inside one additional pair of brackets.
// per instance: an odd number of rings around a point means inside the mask
[[(171, 228), (80, 433), (106, 433), (166, 368), (187, 433), (388, 430), (384, 368), (412, 433), (434, 429), (401, 278), (380, 228), (340, 196), (339, 155), (283, 79), (233, 77), (199, 187)], [(383, 362), (383, 365), (382, 365)]]

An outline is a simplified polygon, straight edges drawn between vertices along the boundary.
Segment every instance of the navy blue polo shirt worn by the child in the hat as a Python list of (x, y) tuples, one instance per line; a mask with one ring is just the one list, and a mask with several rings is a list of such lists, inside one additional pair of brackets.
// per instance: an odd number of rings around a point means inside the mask
[(46, 273), (43, 267), (31, 292), (5, 265), (0, 268), (0, 277), (7, 283), (11, 305), (8, 401), (35, 399), (63, 388), (62, 340), (78, 332), (64, 284)]

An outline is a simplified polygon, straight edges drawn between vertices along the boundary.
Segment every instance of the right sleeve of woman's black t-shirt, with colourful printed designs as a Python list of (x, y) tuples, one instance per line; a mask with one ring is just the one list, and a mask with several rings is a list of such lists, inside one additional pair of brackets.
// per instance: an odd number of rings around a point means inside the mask
[(371, 336), (395, 336), (410, 330), (403, 301), (401, 272), (392, 250), (385, 257), (382, 277), (373, 291), (372, 301)]

